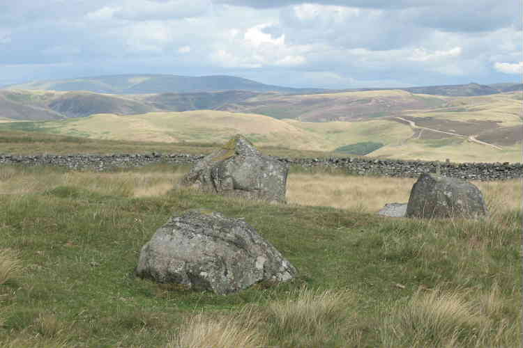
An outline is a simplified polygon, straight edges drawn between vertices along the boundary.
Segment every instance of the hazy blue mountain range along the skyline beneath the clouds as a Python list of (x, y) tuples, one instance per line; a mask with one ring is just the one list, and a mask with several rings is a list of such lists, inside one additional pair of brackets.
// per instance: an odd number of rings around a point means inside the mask
[(447, 95), (452, 97), (470, 97), (491, 95), (523, 90), (523, 84), (463, 84), (449, 86), (425, 86), (409, 88), (354, 88), (345, 90), (327, 90), (323, 88), (290, 88), (261, 84), (250, 79), (227, 75), (189, 77), (167, 74), (123, 74), (100, 77), (83, 77), (49, 81), (33, 81), (26, 84), (4, 86), (3, 89), (88, 91), (110, 94), (151, 94), (151, 93), (201, 93), (224, 90), (245, 90), (252, 92), (278, 92), (287, 94), (315, 94), (358, 90), (399, 89), (411, 93)]

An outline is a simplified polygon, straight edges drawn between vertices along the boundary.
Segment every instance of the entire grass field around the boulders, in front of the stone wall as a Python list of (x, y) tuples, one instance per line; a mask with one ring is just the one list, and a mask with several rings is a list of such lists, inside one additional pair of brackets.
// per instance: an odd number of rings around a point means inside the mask
[[(0, 346), (520, 347), (520, 181), (478, 183), (488, 218), (419, 221), (374, 214), (413, 180), (293, 169), (282, 205), (180, 189), (186, 171), (0, 166)], [(135, 278), (195, 207), (243, 217), (298, 278), (229, 296)]]

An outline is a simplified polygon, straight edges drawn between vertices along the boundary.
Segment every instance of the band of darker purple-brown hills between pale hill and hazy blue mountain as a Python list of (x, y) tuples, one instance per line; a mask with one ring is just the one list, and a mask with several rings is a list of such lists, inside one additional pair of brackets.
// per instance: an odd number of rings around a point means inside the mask
[(287, 94), (248, 90), (114, 95), (85, 91), (0, 90), (0, 118), (59, 120), (98, 113), (217, 110), (257, 113), (310, 122), (352, 121), (399, 115), (404, 110), (447, 106), (445, 97), (404, 90)]

